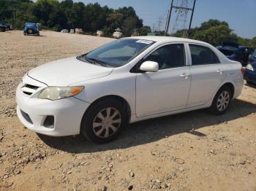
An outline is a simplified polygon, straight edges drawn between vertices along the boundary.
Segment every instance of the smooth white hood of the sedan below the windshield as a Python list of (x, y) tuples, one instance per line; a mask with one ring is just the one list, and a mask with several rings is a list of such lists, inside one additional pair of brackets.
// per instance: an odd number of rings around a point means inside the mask
[(42, 66), (31, 69), (28, 75), (46, 85), (62, 86), (105, 77), (111, 71), (113, 71), (113, 68), (97, 66), (72, 57), (45, 63)]

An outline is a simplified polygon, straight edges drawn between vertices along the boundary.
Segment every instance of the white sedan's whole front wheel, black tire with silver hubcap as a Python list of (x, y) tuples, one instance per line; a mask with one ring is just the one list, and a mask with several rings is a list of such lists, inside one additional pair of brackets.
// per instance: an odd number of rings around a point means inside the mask
[(106, 98), (89, 107), (83, 115), (80, 132), (89, 141), (104, 144), (116, 139), (125, 125), (127, 113), (124, 106), (114, 98)]

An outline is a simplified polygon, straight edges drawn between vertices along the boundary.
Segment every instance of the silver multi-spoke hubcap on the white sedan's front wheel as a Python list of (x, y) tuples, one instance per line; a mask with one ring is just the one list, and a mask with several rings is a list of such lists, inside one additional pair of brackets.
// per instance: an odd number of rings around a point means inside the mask
[(112, 136), (121, 125), (121, 114), (118, 109), (107, 107), (94, 117), (93, 129), (96, 136), (108, 138)]

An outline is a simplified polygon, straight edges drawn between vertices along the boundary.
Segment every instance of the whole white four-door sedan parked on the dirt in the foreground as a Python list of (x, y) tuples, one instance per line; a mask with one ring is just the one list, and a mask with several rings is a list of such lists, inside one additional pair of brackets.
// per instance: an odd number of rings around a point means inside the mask
[(203, 108), (223, 114), (241, 94), (242, 73), (205, 42), (118, 39), (29, 71), (16, 90), (17, 114), (37, 133), (105, 143), (140, 120)]

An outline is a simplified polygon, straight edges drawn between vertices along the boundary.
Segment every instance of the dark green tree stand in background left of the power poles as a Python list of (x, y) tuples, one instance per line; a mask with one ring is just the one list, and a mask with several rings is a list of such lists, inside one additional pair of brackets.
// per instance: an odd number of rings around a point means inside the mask
[(121, 28), (124, 36), (139, 28), (146, 35), (148, 28), (132, 7), (111, 9), (98, 3), (83, 4), (72, 0), (0, 0), (0, 20), (12, 23), (22, 29), (24, 23), (41, 23), (42, 28), (61, 31), (63, 28), (82, 28), (86, 34), (102, 30), (105, 36), (112, 36), (116, 28)]

